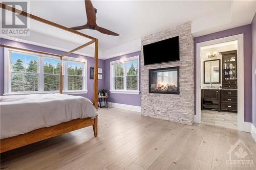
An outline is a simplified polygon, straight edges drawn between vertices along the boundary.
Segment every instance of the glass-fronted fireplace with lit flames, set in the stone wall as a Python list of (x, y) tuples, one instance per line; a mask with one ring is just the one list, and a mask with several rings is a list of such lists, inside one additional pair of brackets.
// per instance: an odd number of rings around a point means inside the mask
[(149, 70), (150, 93), (179, 94), (179, 67)]

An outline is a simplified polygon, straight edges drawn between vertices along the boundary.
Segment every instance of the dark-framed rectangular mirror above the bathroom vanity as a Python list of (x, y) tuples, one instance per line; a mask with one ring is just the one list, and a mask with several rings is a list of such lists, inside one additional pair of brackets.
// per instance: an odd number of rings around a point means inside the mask
[(221, 59), (204, 61), (204, 84), (221, 83)]

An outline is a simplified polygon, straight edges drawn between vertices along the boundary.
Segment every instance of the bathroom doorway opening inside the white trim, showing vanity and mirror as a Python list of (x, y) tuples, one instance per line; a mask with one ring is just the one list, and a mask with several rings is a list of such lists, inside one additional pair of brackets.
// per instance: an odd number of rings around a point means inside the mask
[(238, 42), (201, 47), (201, 122), (237, 129)]

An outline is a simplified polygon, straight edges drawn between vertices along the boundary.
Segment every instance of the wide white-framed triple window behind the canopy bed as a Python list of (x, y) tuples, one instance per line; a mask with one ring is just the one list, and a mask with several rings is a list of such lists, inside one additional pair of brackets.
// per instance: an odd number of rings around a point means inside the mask
[[(87, 93), (87, 60), (62, 58), (63, 93)], [(5, 48), (5, 94), (58, 92), (59, 58)]]

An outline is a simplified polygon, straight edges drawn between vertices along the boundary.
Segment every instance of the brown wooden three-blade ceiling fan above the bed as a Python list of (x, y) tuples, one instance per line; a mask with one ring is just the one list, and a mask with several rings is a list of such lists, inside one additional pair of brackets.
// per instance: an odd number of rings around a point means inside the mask
[(117, 33), (114, 33), (110, 30), (99, 27), (96, 23), (97, 9), (93, 7), (92, 2), (90, 0), (84, 0), (84, 1), (86, 3), (87, 23), (86, 23), (86, 25), (72, 27), (71, 29), (73, 29), (73, 30), (83, 30), (83, 29), (97, 30), (103, 34), (119, 36), (119, 34), (117, 34)]

